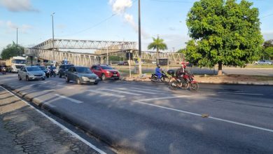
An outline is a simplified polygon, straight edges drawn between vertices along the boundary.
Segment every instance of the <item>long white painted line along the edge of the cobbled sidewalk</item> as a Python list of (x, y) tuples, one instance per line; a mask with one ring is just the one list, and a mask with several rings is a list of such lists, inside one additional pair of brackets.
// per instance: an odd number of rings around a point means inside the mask
[[(0, 85), (0, 87), (2, 87)], [(2, 87), (4, 90), (6, 90), (6, 88)], [(22, 102), (25, 102), (23, 99), (21, 99), (20, 97), (16, 96), (15, 94), (13, 94), (12, 92), (6, 90), (7, 92), (9, 92), (10, 94), (12, 94), (13, 96), (17, 97), (18, 99), (22, 100)], [(80, 137), (78, 134), (76, 134), (75, 132), (69, 130), (68, 128), (66, 128), (64, 125), (58, 123), (56, 120), (50, 118), (49, 116), (47, 116), (45, 113), (43, 113), (42, 111), (39, 111), (38, 109), (34, 108), (34, 106), (31, 106), (28, 102), (25, 102), (25, 104), (27, 104), (28, 106), (30, 106), (32, 109), (34, 109), (35, 111), (37, 111), (38, 113), (40, 113), (41, 115), (43, 115), (45, 118), (48, 118), (48, 120), (50, 120), (52, 123), (54, 123), (55, 125), (59, 126), (62, 130), (64, 130), (65, 132), (68, 132), (69, 134), (73, 135), (74, 137), (76, 137), (77, 139), (79, 139), (80, 141), (82, 141), (83, 143), (85, 143), (87, 146), (89, 146), (90, 148), (93, 148), (95, 151), (97, 151), (98, 153), (101, 154), (106, 154), (104, 151), (102, 151), (101, 149), (97, 148), (96, 146), (94, 146), (93, 144), (91, 144), (90, 142), (86, 141), (85, 139), (83, 139), (82, 137)]]

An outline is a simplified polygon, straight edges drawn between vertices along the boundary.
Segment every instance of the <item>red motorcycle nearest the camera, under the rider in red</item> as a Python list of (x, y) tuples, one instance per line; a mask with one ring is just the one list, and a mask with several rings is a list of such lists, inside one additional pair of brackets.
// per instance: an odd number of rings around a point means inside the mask
[(197, 91), (199, 89), (199, 85), (195, 80), (195, 76), (193, 75), (193, 73), (186, 73), (185, 75), (183, 75), (183, 80), (177, 78), (174, 75), (174, 70), (169, 70), (167, 71), (167, 73), (172, 76), (172, 78), (169, 80), (170, 89), (176, 90), (177, 88), (181, 89), (190, 88), (191, 91)]

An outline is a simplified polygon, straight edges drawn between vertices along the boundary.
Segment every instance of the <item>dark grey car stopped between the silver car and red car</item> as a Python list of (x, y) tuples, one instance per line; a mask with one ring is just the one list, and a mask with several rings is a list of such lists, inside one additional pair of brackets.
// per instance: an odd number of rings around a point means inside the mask
[(71, 66), (66, 72), (66, 83), (70, 80), (76, 81), (78, 85), (82, 83), (99, 83), (99, 77), (85, 66)]

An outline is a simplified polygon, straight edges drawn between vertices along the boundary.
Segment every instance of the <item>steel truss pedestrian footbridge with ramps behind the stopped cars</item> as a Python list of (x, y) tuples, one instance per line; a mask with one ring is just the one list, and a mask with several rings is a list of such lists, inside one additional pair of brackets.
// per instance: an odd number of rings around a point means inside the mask
[[(54, 42), (54, 45), (53, 45)], [(54, 48), (53, 48), (54, 46)], [(47, 59), (55, 62), (62, 62), (67, 59), (72, 64), (90, 66), (92, 64), (105, 64), (106, 56), (113, 55), (126, 57), (126, 52), (132, 52), (132, 59), (139, 59), (137, 43), (132, 41), (90, 41), (72, 39), (49, 39), (27, 48), (25, 54), (38, 59)], [(60, 50), (77, 50), (77, 52)], [(94, 54), (83, 52), (83, 50), (94, 50)], [(79, 51), (79, 52), (78, 52)], [(155, 61), (155, 52), (141, 52), (141, 59)], [(169, 62), (181, 62), (183, 54), (160, 52), (159, 58), (169, 58)]]

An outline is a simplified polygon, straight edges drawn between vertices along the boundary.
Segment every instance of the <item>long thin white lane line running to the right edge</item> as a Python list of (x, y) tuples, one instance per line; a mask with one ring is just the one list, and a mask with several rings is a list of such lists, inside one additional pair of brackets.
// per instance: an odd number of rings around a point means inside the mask
[[(183, 111), (183, 110), (179, 110), (179, 109), (172, 109), (172, 108), (169, 108), (169, 107), (159, 106), (159, 105), (155, 105), (155, 104), (148, 104), (148, 103), (145, 103), (145, 102), (140, 102), (139, 100), (133, 101), (133, 102), (136, 102), (136, 103), (139, 103), (139, 104), (145, 104), (145, 105), (149, 105), (149, 106), (155, 106), (155, 107), (158, 107), (158, 108), (167, 109), (167, 110), (171, 110), (171, 111), (177, 111), (177, 112), (181, 112), (181, 113), (187, 113), (187, 114), (194, 115), (194, 116), (202, 116), (199, 113), (193, 113), (193, 112)], [(238, 122), (235, 122), (235, 121), (232, 121), (232, 120), (225, 120), (225, 119), (216, 118), (216, 117), (212, 117), (212, 116), (209, 116), (208, 118), (211, 118), (211, 119), (214, 119), (214, 120), (218, 120), (218, 121), (222, 121), (222, 122), (225, 122), (225, 123), (232, 123), (232, 124), (235, 124), (235, 125), (241, 125), (241, 126), (245, 126), (245, 127), (251, 127), (251, 128), (254, 128), (254, 129), (257, 129), (257, 130), (264, 130), (264, 131), (272, 132), (273, 133), (273, 130), (270, 130), (270, 129), (267, 129), (267, 128), (263, 128), (263, 127), (258, 127), (258, 126), (254, 126), (254, 125), (247, 125), (247, 124), (244, 124), (244, 123), (238, 123)]]

